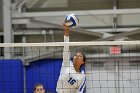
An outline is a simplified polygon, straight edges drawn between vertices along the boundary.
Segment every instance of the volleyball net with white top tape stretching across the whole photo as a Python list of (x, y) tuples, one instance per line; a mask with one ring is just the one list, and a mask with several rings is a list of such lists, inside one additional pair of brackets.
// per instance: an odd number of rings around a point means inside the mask
[(56, 93), (63, 47), (86, 56), (85, 93), (139, 93), (140, 41), (1, 43), (0, 93)]

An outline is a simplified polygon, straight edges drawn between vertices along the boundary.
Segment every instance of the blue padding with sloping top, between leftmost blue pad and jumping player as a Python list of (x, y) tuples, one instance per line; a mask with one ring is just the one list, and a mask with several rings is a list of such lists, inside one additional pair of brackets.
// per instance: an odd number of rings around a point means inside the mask
[(46, 92), (56, 93), (61, 65), (62, 59), (43, 59), (30, 63), (26, 67), (27, 93), (33, 93), (37, 83), (43, 84)]

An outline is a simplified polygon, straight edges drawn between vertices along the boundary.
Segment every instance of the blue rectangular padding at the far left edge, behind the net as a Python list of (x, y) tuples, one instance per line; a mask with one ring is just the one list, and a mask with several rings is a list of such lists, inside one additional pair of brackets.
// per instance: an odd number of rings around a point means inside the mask
[(0, 93), (24, 93), (21, 60), (0, 60)]

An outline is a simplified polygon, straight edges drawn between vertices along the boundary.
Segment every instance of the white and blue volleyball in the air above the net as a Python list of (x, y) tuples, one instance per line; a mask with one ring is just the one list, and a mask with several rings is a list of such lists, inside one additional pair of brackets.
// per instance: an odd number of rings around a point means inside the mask
[(65, 17), (64, 22), (65, 22), (66, 26), (74, 28), (74, 27), (78, 26), (79, 19), (78, 19), (77, 15), (69, 14)]

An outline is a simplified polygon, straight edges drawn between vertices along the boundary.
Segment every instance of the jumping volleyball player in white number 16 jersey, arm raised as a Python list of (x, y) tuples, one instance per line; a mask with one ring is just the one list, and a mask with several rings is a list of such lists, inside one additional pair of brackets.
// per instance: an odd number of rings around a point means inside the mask
[[(64, 24), (64, 29), (64, 42), (69, 42), (69, 27)], [(70, 61), (69, 46), (64, 46), (63, 63), (56, 88), (58, 93), (83, 93), (86, 82), (84, 64), (85, 56), (80, 52)]]

